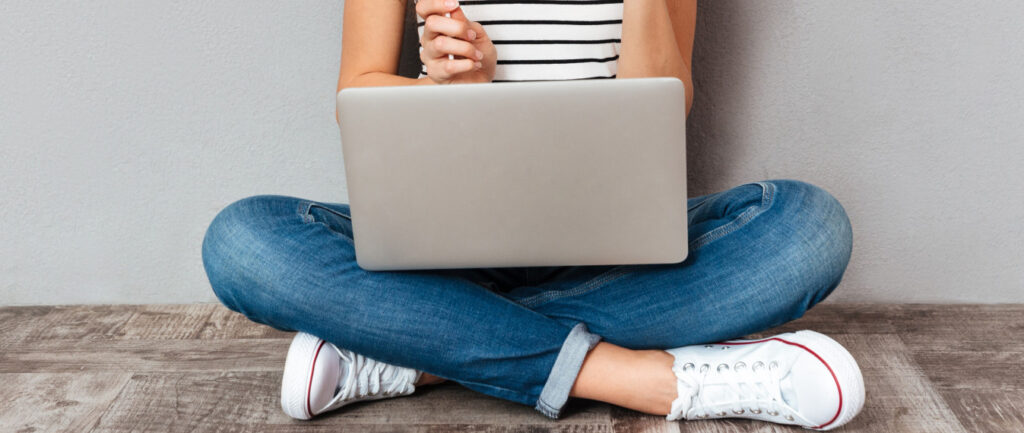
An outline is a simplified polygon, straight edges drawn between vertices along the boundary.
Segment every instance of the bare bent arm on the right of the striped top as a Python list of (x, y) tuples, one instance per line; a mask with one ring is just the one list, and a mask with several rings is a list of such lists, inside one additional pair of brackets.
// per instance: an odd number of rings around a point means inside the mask
[[(618, 78), (676, 77), (693, 104), (693, 78), (676, 39), (667, 0), (625, 0)], [(671, 1), (671, 0), (668, 0)]]

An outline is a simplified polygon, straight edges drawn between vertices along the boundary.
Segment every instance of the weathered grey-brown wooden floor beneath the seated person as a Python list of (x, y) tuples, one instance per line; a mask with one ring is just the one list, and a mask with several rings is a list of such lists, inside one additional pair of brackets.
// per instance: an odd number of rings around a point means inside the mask
[[(1024, 432), (1024, 305), (822, 305), (867, 382), (848, 432)], [(560, 421), (454, 384), (312, 422), (279, 407), (291, 335), (219, 305), (0, 308), (0, 432), (781, 432), (592, 401)]]

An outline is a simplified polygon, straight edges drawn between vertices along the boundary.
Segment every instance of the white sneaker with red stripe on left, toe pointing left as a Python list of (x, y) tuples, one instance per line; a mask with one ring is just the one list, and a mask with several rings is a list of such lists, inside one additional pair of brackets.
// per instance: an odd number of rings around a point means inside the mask
[(281, 382), (281, 408), (298, 420), (348, 403), (416, 391), (420, 372), (370, 359), (309, 334), (292, 340)]

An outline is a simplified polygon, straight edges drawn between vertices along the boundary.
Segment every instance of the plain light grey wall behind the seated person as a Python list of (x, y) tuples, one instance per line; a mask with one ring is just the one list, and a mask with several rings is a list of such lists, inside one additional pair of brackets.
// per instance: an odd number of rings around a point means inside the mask
[[(231, 201), (344, 201), (341, 2), (0, 2), (0, 304), (213, 301)], [(1024, 302), (1024, 2), (702, 2), (692, 193), (847, 207), (834, 300)]]

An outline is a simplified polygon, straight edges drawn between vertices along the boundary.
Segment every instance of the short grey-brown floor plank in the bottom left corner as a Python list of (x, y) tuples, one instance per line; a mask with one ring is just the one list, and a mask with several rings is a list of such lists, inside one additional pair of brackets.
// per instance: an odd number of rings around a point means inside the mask
[(88, 431), (128, 382), (125, 374), (0, 374), (0, 431)]

